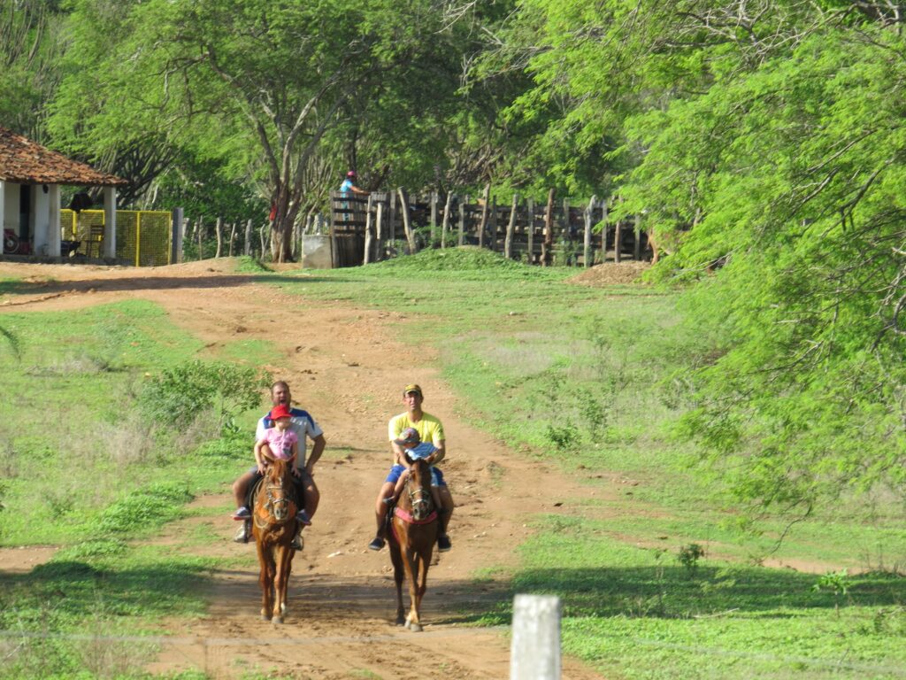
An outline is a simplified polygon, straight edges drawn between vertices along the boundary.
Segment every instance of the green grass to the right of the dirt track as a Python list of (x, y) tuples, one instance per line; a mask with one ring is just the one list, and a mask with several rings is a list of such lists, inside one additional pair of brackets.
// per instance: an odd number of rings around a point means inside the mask
[[(439, 349), (462, 416), (587, 486), (557, 499), (568, 516), (537, 520), (513, 580), (564, 599), (567, 652), (608, 677), (906, 675), (906, 584), (883, 571), (906, 565), (902, 508), (853, 499), (792, 525), (753, 521), (671, 435), (708, 338), (674, 293), (573, 287), (574, 273), (455, 248), (271, 280), (399, 313), (391, 331)], [(694, 574), (678, 561), (693, 543), (706, 553)], [(840, 597), (764, 559), (882, 571), (844, 578)]]

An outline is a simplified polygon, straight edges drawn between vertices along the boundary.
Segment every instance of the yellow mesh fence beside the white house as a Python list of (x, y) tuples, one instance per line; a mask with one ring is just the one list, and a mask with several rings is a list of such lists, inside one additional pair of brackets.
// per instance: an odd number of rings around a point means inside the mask
[[(117, 210), (116, 257), (136, 267), (169, 265), (170, 224), (167, 210)], [(75, 253), (101, 257), (104, 252), (104, 211), (60, 211), (60, 231), (64, 241), (78, 241)]]

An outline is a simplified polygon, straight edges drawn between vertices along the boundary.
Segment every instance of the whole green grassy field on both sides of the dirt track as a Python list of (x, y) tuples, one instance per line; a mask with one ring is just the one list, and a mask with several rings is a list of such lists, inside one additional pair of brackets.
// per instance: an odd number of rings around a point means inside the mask
[[(906, 583), (894, 573), (906, 565), (901, 503), (854, 499), (792, 526), (751, 522), (672, 435), (689, 370), (708, 352), (677, 294), (577, 287), (564, 281), (574, 273), (451, 249), (259, 280), (399, 312), (400, 337), (438, 348), (462, 416), (515, 455), (558, 461), (583, 481), (587, 493), (537, 517), (520, 568), (505, 574), (514, 592), (563, 598), (567, 652), (608, 677), (906, 676)], [(198, 584), (223, 564), (131, 539), (185, 517), (199, 492), (222, 490), (246, 452), (219, 429), (197, 434), (209, 442), (192, 457), (169, 454), (165, 430), (147, 450), (123, 444), (144, 432), (121, 413), (141, 408), (146, 374), (185, 365), (202, 346), (163, 321), (138, 302), (0, 319), (0, 367), (19, 397), (0, 403), (0, 500), (28, 509), (0, 511), (0, 543), (64, 546), (27, 577), (0, 575), (0, 628), (149, 633), (161, 617), (204, 607)], [(271, 352), (236, 344), (218, 358), (246, 364)], [(58, 432), (48, 419), (70, 424)], [(252, 416), (236, 413), (236, 423), (247, 430)], [(48, 465), (66, 474), (48, 476)], [(27, 502), (34, 497), (42, 502)], [(89, 520), (102, 529), (89, 534)], [(206, 537), (201, 529), (185, 540)], [(830, 573), (766, 568), (769, 559)], [(168, 597), (142, 595), (163, 584)], [(503, 607), (479, 623), (509, 617)], [(132, 645), (117, 656), (53, 637), (27, 644), (0, 677), (128, 677), (153, 651)], [(11, 654), (0, 647), (0, 658)]]

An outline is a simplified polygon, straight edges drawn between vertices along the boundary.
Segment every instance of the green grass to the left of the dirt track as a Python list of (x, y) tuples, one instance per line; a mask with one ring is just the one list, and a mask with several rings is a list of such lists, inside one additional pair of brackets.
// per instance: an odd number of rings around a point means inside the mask
[[(14, 634), (0, 637), (0, 677), (140, 676), (153, 645), (66, 635), (147, 635), (162, 617), (204, 611), (200, 586), (226, 565), (135, 539), (187, 517), (197, 494), (222, 491), (247, 458), (247, 435), (206, 428), (215, 420), (206, 413), (193, 436), (207, 443), (189, 458), (172, 432), (143, 418), (139, 395), (152, 372), (203, 346), (157, 306), (6, 315), (0, 325), (5, 392), (16, 395), (0, 403), (0, 544), (63, 546), (30, 574), (0, 574), (0, 630)], [(242, 417), (251, 428), (253, 416)]]

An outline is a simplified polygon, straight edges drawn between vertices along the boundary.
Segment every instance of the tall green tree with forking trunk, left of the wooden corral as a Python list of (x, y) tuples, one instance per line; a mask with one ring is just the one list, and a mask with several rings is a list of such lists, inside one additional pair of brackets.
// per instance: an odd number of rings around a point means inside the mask
[[(75, 1), (86, 16), (109, 9), (102, 0)], [(445, 43), (441, 9), (436, 0), (132, 2), (117, 17), (123, 32), (105, 45), (95, 88), (118, 105), (88, 124), (98, 141), (105, 129), (122, 140), (132, 121), (137, 134), (159, 137), (159, 148), (219, 158), (236, 177), (263, 183), (273, 255), (283, 260), (295, 220), (317, 194), (311, 181), (323, 187), (318, 168), (324, 151), (337, 148), (335, 136), (328, 143), (333, 132), (350, 115), (374, 120), (362, 110), (411, 108), (399, 98), (414, 101), (408, 85), (422, 73), (412, 64)], [(397, 116), (394, 124), (403, 131), (413, 120)], [(68, 126), (80, 127), (84, 121)]]

